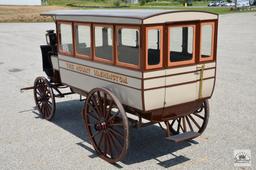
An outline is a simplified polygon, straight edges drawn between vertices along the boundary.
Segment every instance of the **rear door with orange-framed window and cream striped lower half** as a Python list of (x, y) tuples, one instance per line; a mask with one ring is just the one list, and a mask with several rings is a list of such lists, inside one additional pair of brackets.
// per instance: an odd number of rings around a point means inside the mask
[(172, 24), (166, 28), (166, 107), (198, 99), (200, 72), (196, 65), (196, 28), (196, 23), (193, 22)]

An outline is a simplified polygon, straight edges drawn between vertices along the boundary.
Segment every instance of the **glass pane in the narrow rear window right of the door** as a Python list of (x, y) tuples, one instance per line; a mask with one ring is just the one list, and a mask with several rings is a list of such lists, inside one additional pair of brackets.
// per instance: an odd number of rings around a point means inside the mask
[(212, 25), (202, 26), (201, 57), (210, 57), (212, 53)]

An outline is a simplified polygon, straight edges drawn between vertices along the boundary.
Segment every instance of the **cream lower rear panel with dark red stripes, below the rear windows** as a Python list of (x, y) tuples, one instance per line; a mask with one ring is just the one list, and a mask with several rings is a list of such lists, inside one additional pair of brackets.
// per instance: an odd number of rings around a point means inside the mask
[[(145, 110), (150, 111), (209, 98), (215, 81), (215, 62), (144, 73)], [(202, 95), (200, 97), (200, 85)]]

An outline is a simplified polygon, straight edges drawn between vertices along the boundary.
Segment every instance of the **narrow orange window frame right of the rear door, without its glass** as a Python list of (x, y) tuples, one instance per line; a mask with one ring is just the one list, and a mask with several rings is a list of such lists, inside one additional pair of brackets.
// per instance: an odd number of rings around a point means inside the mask
[[(211, 55), (209, 57), (202, 57), (202, 28), (204, 25), (212, 26), (212, 39), (211, 39)], [(214, 60), (214, 44), (215, 44), (215, 21), (200, 22), (200, 50), (199, 50), (199, 62), (213, 61)]]

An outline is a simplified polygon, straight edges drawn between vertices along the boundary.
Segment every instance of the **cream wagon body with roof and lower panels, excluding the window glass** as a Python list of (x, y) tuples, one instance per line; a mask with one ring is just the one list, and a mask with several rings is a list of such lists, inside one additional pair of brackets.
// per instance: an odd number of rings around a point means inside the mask
[[(114, 27), (132, 26), (154, 27), (166, 29), (168, 24), (181, 23), (193, 27), (194, 39), (198, 23), (216, 22), (216, 14), (195, 11), (163, 11), (163, 10), (86, 10), (86, 11), (53, 11), (43, 15), (53, 16), (63, 22), (86, 24), (112, 24)], [(217, 25), (213, 25), (214, 32)], [(168, 29), (168, 28), (167, 28)], [(143, 28), (140, 30), (143, 36)], [(165, 32), (163, 34), (166, 34)], [(213, 33), (214, 34), (214, 33)], [(212, 35), (213, 35), (212, 34)], [(150, 35), (149, 35), (150, 36)], [(166, 35), (164, 35), (166, 36)], [(216, 37), (216, 35), (214, 35)], [(165, 41), (165, 40), (162, 40)], [(206, 62), (195, 61), (192, 64), (181, 64), (178, 67), (161, 69), (130, 69), (104, 62), (95, 62), (75, 56), (59, 54), (52, 57), (54, 68), (60, 71), (61, 81), (71, 87), (89, 92), (95, 87), (107, 87), (113, 91), (122, 104), (141, 111), (152, 111), (170, 107), (201, 98), (211, 97), (215, 83), (216, 60), (213, 59), (214, 38), (212, 37), (212, 59)], [(145, 42), (143, 42), (145, 43)], [(164, 42), (165, 43), (165, 42)], [(196, 43), (193, 42), (196, 48)], [(162, 44), (164, 45), (164, 44)], [(144, 49), (141, 44), (140, 55)], [(195, 49), (194, 49), (195, 52)], [(167, 58), (163, 52), (163, 60)], [(196, 54), (193, 54), (195, 58)], [(216, 58), (214, 56), (214, 58)], [(198, 60), (198, 59), (196, 59)], [(140, 59), (142, 62), (143, 59)], [(164, 63), (164, 62), (163, 62)], [(144, 63), (145, 65), (145, 63)], [(204, 70), (201, 75), (201, 68)], [(142, 67), (145, 67), (142, 65)]]

